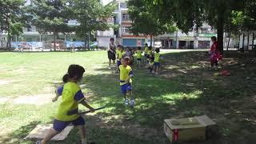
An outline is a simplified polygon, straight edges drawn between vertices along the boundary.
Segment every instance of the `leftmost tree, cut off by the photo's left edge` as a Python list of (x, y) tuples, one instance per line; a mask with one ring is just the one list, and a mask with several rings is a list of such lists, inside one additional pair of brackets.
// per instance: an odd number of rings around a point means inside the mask
[(6, 48), (9, 50), (12, 35), (22, 34), (22, 27), (28, 20), (24, 4), (24, 0), (0, 0), (0, 31), (7, 32)]

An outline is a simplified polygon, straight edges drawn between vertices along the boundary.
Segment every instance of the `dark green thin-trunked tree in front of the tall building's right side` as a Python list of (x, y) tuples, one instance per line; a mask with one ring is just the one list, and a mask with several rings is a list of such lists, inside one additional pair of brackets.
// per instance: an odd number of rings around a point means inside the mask
[(130, 26), (130, 32), (133, 34), (150, 35), (150, 46), (152, 46), (152, 37), (165, 32), (174, 32), (176, 27), (173, 22), (162, 24), (151, 10), (146, 6), (143, 0), (134, 0), (128, 2), (129, 15), (133, 23)]

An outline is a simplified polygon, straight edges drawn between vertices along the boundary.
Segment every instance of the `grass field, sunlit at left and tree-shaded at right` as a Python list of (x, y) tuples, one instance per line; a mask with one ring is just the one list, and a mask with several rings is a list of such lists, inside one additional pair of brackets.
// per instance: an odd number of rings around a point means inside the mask
[[(0, 53), (0, 143), (34, 143), (22, 138), (40, 123), (51, 123), (58, 102), (54, 90), (70, 64), (86, 68), (81, 87), (92, 106), (107, 108), (86, 115), (91, 141), (106, 144), (164, 144), (163, 120), (206, 114), (218, 123), (217, 133), (202, 144), (256, 142), (256, 58), (226, 53), (214, 77), (205, 51), (162, 54), (161, 76), (134, 70), (137, 105), (123, 105), (118, 74), (107, 69), (106, 51)], [(84, 108), (80, 106), (82, 110)], [(64, 142), (79, 143), (74, 129)], [(54, 143), (54, 142), (50, 142)], [(191, 142), (181, 142), (191, 143)]]

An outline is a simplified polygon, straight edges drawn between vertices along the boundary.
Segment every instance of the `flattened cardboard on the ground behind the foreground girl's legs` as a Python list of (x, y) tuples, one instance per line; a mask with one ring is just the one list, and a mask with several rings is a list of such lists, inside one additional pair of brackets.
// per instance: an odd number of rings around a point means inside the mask
[[(30, 138), (38, 138), (42, 139), (48, 134), (48, 131), (50, 128), (52, 128), (52, 124), (46, 124), (46, 125), (38, 125), (26, 136), (24, 139), (30, 139)], [(63, 141), (68, 134), (70, 134), (70, 131), (73, 129), (74, 126), (66, 126), (64, 130), (60, 134), (57, 134), (54, 136), (54, 138), (51, 138), (51, 141)]]

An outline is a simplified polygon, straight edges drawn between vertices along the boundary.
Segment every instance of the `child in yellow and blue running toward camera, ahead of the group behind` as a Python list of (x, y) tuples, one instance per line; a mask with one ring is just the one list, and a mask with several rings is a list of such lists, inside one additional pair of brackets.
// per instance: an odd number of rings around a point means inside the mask
[(125, 105), (129, 105), (128, 96), (130, 96), (130, 106), (135, 105), (134, 98), (132, 96), (132, 87), (131, 87), (131, 78), (134, 77), (133, 70), (130, 66), (128, 66), (130, 59), (129, 58), (122, 58), (121, 63), (122, 65), (119, 66), (120, 69), (120, 86), (121, 86), (121, 92), (125, 98)]

